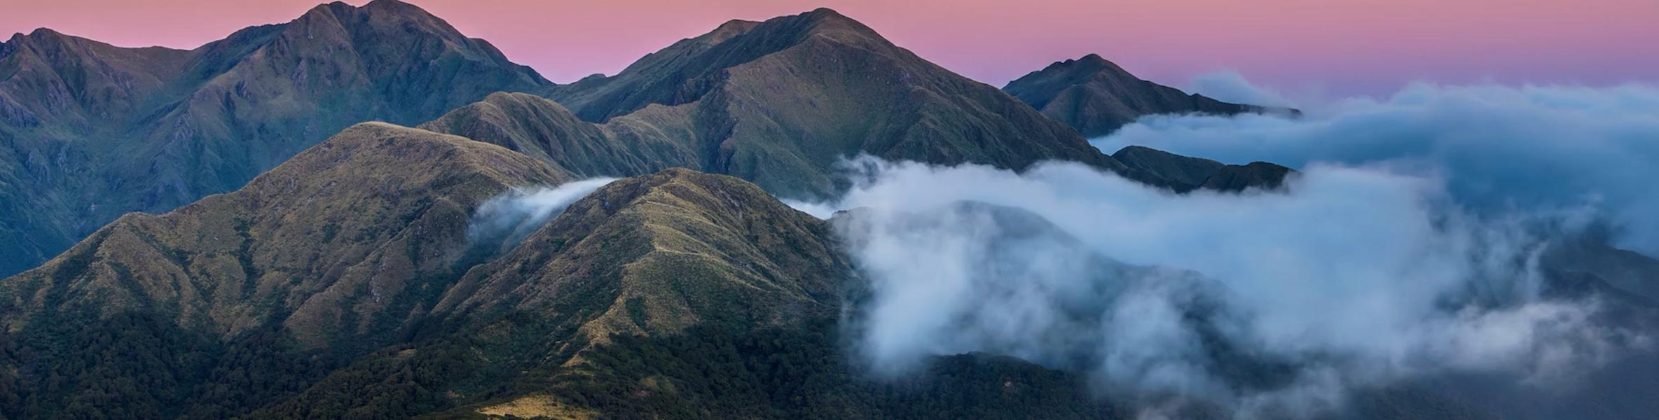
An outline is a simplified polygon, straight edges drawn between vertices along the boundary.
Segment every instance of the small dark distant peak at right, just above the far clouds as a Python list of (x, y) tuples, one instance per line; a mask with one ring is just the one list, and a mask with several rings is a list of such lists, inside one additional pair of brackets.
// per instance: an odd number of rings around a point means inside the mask
[(1112, 134), (1145, 115), (1301, 113), (1186, 95), (1176, 88), (1140, 80), (1098, 55), (1048, 65), (1009, 81), (1002, 91), (1075, 128), (1085, 138)]

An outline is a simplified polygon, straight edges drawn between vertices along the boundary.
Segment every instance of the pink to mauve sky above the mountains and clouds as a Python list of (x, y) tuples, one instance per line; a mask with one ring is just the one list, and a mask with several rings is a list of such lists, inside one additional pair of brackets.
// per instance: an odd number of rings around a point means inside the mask
[[(365, 0), (348, 3), (362, 5)], [(1659, 0), (410, 0), (554, 81), (615, 73), (730, 18), (831, 7), (966, 76), (1004, 85), (1100, 53), (1153, 81), (1236, 70), (1261, 85), (1387, 95), (1407, 81), (1659, 81)], [(38, 27), (194, 48), (315, 0), (0, 0)]]

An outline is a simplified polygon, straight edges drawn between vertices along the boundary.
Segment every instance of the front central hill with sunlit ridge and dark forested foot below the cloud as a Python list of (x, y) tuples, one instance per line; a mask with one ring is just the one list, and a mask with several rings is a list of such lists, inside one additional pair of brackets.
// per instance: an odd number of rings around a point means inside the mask
[(851, 272), (828, 222), (750, 183), (620, 179), (468, 272), (428, 339), (252, 417), (1113, 413), (1078, 378), (1005, 357), (951, 357), (907, 383), (858, 378), (834, 325)]

